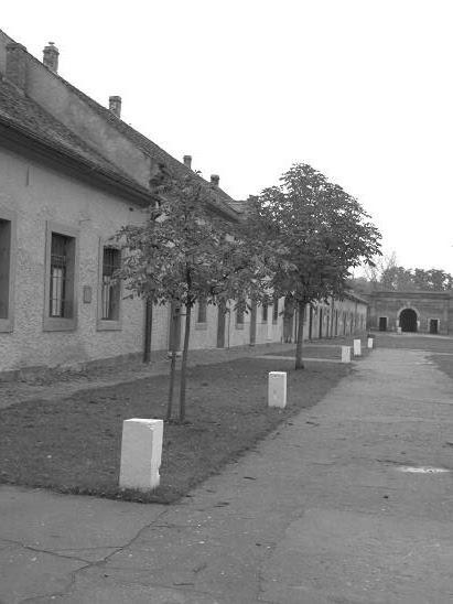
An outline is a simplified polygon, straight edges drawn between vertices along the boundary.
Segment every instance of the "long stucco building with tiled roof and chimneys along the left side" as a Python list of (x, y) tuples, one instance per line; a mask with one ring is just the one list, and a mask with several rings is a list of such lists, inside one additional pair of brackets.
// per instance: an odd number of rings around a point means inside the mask
[[(240, 204), (213, 175), (204, 181), (132, 129), (120, 98), (101, 107), (57, 73), (58, 52), (43, 62), (0, 31), (0, 376), (67, 368), (180, 347), (182, 312), (123, 295), (112, 274), (121, 262), (111, 237), (145, 219), (155, 203), (150, 180), (162, 166), (198, 180), (209, 208), (240, 220)], [(249, 313), (197, 304), (192, 348), (294, 337), (283, 300)], [(362, 328), (366, 303), (352, 299), (305, 313), (305, 337)], [(314, 313), (314, 314), (313, 314)]]

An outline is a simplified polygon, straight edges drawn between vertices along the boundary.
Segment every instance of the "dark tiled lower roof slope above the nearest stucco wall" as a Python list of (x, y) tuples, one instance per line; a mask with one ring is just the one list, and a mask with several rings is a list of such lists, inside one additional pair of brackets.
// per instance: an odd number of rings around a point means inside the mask
[[(0, 76), (0, 119), (48, 147), (88, 163), (94, 170), (138, 188), (126, 173)], [(143, 193), (145, 190), (140, 187)]]

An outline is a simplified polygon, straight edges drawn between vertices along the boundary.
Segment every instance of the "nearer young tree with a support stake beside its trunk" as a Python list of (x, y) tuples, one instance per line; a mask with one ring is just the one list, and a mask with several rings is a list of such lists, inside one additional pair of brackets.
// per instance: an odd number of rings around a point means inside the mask
[[(206, 190), (187, 176), (161, 173), (154, 181), (161, 203), (148, 209), (143, 225), (129, 225), (117, 235), (125, 250), (118, 278), (131, 295), (153, 304), (185, 308), (179, 420), (185, 419), (186, 368), (192, 309), (197, 301), (226, 312), (229, 300), (245, 310), (247, 296), (259, 295), (269, 270), (260, 251), (234, 238), (235, 226), (209, 211)], [(172, 350), (166, 419), (172, 416), (175, 350)]]

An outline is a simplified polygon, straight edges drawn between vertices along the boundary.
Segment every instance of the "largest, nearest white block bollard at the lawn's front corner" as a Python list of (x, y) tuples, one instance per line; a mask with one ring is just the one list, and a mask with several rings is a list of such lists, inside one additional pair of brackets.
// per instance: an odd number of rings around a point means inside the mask
[(159, 486), (163, 420), (132, 418), (122, 422), (120, 488), (152, 490)]

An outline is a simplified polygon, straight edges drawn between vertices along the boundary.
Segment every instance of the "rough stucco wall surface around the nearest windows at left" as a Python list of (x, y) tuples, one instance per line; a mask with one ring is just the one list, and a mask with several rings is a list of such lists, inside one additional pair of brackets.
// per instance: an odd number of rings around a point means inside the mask
[[(0, 150), (0, 207), (13, 211), (17, 217), (14, 322), (11, 333), (0, 333), (0, 371), (140, 353), (144, 316), (140, 300), (121, 302), (120, 331), (97, 330), (100, 238), (114, 235), (121, 225), (140, 222), (140, 211), (3, 150)], [(43, 331), (48, 220), (79, 233), (74, 331)], [(91, 288), (90, 303), (83, 302), (84, 285)]]

